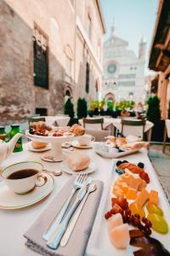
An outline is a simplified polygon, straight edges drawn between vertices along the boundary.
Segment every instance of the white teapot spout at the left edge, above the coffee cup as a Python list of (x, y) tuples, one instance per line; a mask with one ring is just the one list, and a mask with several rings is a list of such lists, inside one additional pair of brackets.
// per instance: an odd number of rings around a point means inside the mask
[(13, 153), (14, 147), (18, 139), (20, 139), (20, 137), (22, 136), (23, 134), (17, 133), (8, 143), (0, 143), (0, 165), (3, 160), (6, 160), (8, 156)]

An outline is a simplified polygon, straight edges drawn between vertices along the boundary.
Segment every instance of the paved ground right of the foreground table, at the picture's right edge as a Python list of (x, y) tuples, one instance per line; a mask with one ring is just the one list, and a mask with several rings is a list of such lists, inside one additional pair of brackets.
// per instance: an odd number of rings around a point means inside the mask
[(163, 154), (162, 145), (150, 145), (149, 155), (170, 201), (170, 146), (166, 147), (166, 152)]

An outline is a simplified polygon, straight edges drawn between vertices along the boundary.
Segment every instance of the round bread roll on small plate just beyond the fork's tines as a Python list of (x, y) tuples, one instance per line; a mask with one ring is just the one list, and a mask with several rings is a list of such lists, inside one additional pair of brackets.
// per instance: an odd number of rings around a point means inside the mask
[(90, 158), (88, 154), (74, 152), (68, 156), (66, 163), (72, 171), (79, 172), (88, 168)]

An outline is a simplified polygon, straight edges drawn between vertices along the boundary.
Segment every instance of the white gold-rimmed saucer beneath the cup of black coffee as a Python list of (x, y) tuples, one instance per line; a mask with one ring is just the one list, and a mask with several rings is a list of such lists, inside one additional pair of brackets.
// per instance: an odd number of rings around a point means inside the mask
[(47, 183), (42, 187), (36, 187), (26, 195), (17, 195), (4, 182), (0, 182), (0, 209), (20, 209), (29, 207), (46, 197), (54, 188), (54, 177), (43, 173), (48, 177)]

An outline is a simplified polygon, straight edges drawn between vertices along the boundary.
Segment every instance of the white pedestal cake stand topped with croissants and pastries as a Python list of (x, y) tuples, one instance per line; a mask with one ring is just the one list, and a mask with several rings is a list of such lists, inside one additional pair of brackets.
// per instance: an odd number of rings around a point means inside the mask
[(61, 145), (65, 142), (75, 140), (75, 137), (81, 137), (85, 129), (81, 125), (72, 125), (66, 127), (48, 126), (45, 122), (34, 122), (29, 125), (26, 131), (26, 137), (35, 143), (51, 143), (52, 149), (42, 160), (58, 162), (62, 161)]

